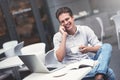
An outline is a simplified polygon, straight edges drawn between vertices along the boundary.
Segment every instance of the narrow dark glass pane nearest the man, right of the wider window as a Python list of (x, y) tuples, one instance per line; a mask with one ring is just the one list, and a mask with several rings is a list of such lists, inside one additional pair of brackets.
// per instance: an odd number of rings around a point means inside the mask
[(36, 0), (36, 4), (37, 4), (37, 7), (39, 8), (40, 17), (41, 17), (41, 21), (43, 23), (43, 27), (44, 27), (47, 42), (50, 45), (50, 48), (53, 48), (52, 36), (53, 36), (54, 32), (52, 32), (53, 27), (50, 23), (50, 19), (49, 19), (48, 14), (47, 14), (47, 9), (46, 9), (46, 6), (45, 6), (45, 2), (43, 0)]

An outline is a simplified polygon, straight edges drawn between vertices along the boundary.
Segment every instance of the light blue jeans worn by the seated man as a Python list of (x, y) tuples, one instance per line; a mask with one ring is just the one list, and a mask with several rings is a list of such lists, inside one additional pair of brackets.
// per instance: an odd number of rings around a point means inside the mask
[(116, 80), (114, 72), (109, 68), (111, 53), (112, 46), (108, 43), (103, 44), (93, 58), (98, 60), (99, 64), (86, 77), (94, 77), (97, 73), (101, 73), (106, 75), (108, 80)]

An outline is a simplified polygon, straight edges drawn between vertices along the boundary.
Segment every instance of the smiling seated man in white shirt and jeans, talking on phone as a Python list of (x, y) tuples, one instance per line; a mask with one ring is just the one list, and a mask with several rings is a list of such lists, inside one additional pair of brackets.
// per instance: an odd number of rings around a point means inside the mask
[[(93, 60), (99, 64), (87, 75), (95, 80), (115, 80), (112, 69), (108, 68), (112, 52), (110, 44), (102, 44), (93, 30), (87, 26), (75, 25), (73, 13), (70, 8), (62, 7), (56, 12), (60, 26), (59, 32), (54, 35), (55, 57), (59, 62), (68, 64), (81, 59), (90, 59), (88, 52), (94, 52)], [(90, 44), (91, 46), (88, 46)], [(79, 51), (72, 48), (78, 46)]]

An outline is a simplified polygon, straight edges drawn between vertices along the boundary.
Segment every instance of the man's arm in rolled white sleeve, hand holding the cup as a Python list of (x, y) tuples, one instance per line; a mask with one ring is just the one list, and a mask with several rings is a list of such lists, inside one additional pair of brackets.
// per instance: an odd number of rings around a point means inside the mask
[(82, 53), (87, 53), (87, 52), (97, 52), (99, 48), (102, 46), (102, 43), (98, 40), (97, 36), (95, 35), (94, 31), (90, 27), (85, 27), (85, 34), (88, 40), (88, 43), (91, 46), (85, 46), (81, 45), (79, 47), (80, 51)]

